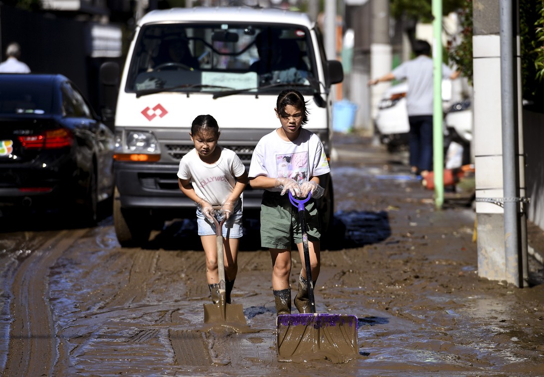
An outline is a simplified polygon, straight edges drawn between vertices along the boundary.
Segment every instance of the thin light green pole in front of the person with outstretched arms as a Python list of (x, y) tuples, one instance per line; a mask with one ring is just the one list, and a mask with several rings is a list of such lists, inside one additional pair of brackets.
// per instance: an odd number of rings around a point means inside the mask
[(435, 179), (435, 206), (444, 203), (444, 133), (442, 130), (442, 0), (432, 0), (432, 73), (434, 101), (432, 111), (432, 150)]

